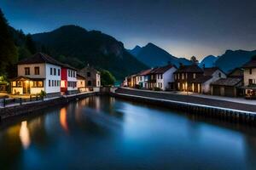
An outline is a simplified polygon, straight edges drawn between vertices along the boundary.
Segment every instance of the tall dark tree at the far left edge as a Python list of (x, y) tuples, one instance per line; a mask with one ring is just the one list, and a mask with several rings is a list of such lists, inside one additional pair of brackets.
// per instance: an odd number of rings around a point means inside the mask
[(7, 74), (6, 68), (18, 60), (17, 48), (9, 32), (8, 21), (0, 8), (0, 74)]

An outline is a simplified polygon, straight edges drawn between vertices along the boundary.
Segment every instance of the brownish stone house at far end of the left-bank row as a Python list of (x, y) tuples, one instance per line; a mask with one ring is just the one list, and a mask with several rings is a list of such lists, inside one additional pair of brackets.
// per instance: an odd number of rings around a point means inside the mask
[(79, 75), (85, 77), (86, 87), (101, 87), (101, 74), (93, 66), (87, 65), (79, 71)]

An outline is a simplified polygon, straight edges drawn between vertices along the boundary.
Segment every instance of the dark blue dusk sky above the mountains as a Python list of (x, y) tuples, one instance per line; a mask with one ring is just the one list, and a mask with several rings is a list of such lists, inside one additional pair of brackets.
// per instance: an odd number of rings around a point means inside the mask
[(1, 0), (0, 7), (26, 33), (75, 24), (116, 37), (125, 48), (153, 42), (187, 58), (256, 49), (255, 0)]

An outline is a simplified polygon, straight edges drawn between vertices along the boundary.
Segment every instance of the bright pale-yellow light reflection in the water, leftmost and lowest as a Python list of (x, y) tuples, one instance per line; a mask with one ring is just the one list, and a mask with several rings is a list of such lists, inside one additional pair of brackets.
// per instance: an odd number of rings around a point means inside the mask
[(29, 136), (29, 129), (27, 127), (27, 122), (21, 122), (21, 126), (20, 126), (20, 141), (21, 144), (23, 146), (23, 148), (26, 150), (31, 141), (30, 141), (30, 136)]

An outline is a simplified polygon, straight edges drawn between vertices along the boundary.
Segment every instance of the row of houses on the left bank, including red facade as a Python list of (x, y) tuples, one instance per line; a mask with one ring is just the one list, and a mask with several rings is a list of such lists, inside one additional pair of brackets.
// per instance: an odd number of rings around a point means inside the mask
[(17, 71), (18, 76), (10, 81), (11, 94), (39, 94), (44, 91), (48, 97), (53, 97), (101, 86), (99, 71), (90, 65), (79, 71), (42, 53), (20, 60)]

